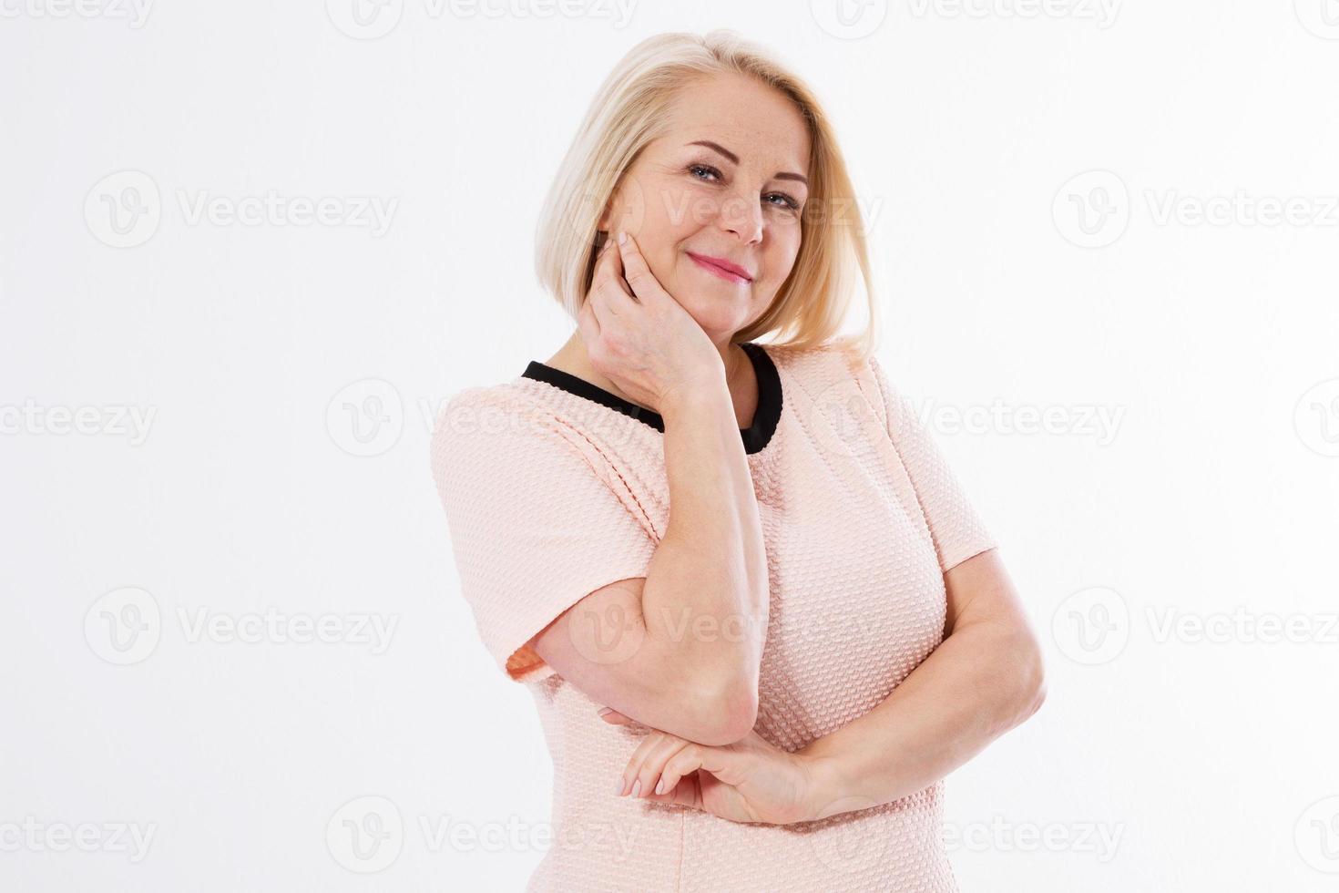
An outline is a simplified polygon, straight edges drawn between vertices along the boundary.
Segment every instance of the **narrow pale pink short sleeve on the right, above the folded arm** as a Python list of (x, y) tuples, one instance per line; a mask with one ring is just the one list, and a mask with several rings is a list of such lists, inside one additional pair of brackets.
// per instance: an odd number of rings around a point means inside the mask
[(939, 444), (916, 416), (911, 400), (889, 384), (874, 356), (869, 357), (869, 367), (884, 400), (888, 435), (916, 490), (939, 566), (948, 573), (972, 556), (995, 548), (995, 538), (948, 467)]

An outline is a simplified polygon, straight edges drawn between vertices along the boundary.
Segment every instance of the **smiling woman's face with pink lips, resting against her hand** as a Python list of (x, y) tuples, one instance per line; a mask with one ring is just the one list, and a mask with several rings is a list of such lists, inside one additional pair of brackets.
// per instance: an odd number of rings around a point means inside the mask
[(807, 171), (794, 103), (753, 78), (700, 78), (625, 171), (600, 229), (632, 234), (665, 291), (722, 344), (762, 316), (795, 264)]

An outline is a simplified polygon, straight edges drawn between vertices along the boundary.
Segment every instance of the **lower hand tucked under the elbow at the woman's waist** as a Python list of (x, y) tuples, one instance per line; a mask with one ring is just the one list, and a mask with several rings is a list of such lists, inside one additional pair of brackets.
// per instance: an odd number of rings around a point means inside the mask
[[(616, 710), (604, 720), (633, 722)], [(652, 728), (623, 771), (620, 795), (633, 790), (633, 797), (692, 806), (731, 822), (769, 825), (811, 819), (818, 799), (810, 762), (769, 744), (758, 732), (712, 747)]]

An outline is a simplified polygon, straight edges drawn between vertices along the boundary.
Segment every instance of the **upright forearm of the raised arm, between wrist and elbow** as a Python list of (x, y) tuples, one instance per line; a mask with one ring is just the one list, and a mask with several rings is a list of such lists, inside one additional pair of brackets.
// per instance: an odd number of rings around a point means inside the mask
[(767, 558), (724, 374), (660, 407), (670, 522), (643, 592), (647, 633), (683, 663), (753, 688), (767, 633)]

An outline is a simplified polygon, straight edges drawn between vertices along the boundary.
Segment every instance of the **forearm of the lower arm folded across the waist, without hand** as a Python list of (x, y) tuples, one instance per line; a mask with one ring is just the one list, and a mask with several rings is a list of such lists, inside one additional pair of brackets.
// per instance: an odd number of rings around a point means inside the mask
[(799, 752), (813, 818), (888, 803), (929, 787), (1031, 716), (1044, 698), (1030, 636), (961, 627), (877, 707)]

